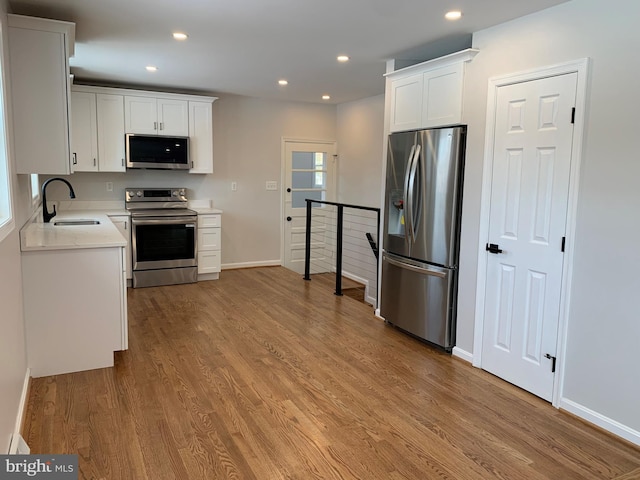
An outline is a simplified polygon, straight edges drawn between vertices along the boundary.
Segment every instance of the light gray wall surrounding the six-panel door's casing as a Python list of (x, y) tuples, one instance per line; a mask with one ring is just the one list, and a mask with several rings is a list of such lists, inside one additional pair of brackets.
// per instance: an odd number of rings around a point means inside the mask
[[(590, 57), (563, 406), (640, 439), (640, 2), (573, 0), (474, 34), (465, 77), (469, 125), (458, 345), (473, 350), (487, 80)], [(562, 365), (560, 366), (562, 368)], [(618, 432), (620, 433), (620, 432)]]

